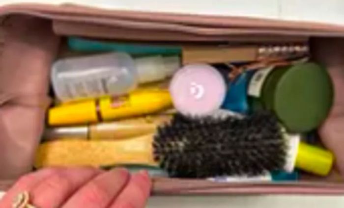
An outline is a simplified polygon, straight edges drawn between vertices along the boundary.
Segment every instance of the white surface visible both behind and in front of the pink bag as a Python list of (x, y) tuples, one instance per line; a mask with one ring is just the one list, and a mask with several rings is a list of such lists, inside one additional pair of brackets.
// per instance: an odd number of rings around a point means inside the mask
[[(66, 0), (0, 0), (63, 3)], [(344, 25), (344, 0), (73, 0), (107, 9), (236, 15)], [(0, 193), (1, 195), (1, 193)], [(160, 196), (148, 208), (343, 208), (344, 196)]]

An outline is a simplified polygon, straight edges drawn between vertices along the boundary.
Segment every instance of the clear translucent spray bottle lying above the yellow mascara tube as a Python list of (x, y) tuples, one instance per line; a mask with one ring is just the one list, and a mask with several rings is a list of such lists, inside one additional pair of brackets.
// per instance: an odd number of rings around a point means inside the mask
[(138, 84), (163, 80), (179, 68), (179, 58), (106, 53), (60, 59), (52, 67), (52, 85), (63, 101), (123, 95)]

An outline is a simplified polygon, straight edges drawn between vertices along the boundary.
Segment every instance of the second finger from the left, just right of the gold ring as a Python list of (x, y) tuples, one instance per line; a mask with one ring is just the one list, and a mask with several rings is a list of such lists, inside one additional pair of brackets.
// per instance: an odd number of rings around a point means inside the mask
[(95, 168), (68, 168), (40, 182), (30, 192), (30, 202), (39, 208), (58, 208), (83, 184), (102, 173)]

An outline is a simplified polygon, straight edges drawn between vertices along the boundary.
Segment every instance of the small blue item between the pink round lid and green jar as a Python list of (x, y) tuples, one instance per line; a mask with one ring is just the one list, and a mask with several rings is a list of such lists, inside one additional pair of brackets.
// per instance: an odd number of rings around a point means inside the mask
[(235, 78), (234, 81), (228, 82), (229, 90), (222, 108), (243, 114), (249, 112), (247, 85), (250, 77), (248, 72), (244, 72)]

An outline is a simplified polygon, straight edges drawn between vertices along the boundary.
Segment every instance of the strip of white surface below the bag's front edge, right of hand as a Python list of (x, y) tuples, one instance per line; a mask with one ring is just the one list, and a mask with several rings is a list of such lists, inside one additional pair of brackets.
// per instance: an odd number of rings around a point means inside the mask
[(147, 208), (343, 208), (335, 196), (194, 196), (151, 197)]

